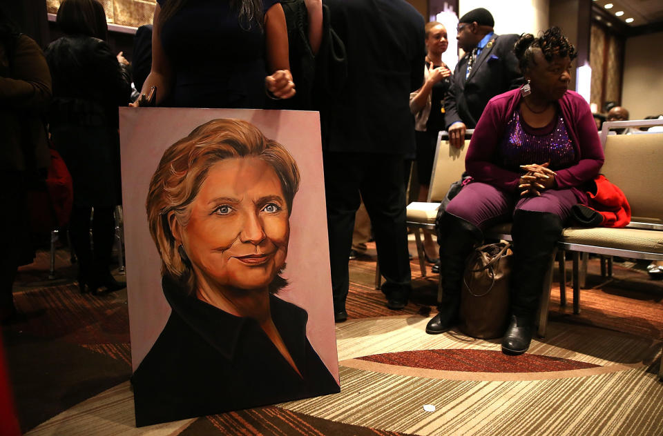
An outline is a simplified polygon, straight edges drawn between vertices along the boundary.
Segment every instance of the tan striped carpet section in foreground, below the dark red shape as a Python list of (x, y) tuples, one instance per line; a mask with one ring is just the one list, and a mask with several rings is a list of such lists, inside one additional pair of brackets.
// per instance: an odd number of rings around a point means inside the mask
[[(454, 381), (342, 367), (340, 377), (343, 389), (334, 398), (282, 407), (417, 435), (654, 436), (663, 430), (663, 389), (653, 375), (643, 378), (635, 369), (535, 381)], [(425, 412), (424, 404), (436, 412)]]

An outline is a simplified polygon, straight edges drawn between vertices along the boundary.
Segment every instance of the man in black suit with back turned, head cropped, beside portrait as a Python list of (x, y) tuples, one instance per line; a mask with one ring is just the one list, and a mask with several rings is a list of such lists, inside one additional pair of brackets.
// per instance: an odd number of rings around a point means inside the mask
[(410, 92), (423, 83), (423, 17), (404, 0), (325, 0), (345, 43), (347, 79), (320, 108), (334, 318), (345, 321), (360, 192), (374, 230), (387, 307), (410, 295), (403, 156), (414, 151)]

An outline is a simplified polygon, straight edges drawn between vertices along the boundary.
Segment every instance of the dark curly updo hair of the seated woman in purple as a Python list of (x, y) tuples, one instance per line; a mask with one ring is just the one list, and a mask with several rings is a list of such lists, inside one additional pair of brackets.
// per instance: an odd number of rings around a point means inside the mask
[(531, 33), (523, 33), (513, 48), (521, 72), (526, 72), (532, 63), (536, 63), (533, 50), (535, 48), (541, 49), (548, 62), (556, 56), (568, 56), (573, 61), (578, 55), (573, 44), (561, 34), (561, 30), (557, 26), (549, 28), (542, 37), (538, 38)]

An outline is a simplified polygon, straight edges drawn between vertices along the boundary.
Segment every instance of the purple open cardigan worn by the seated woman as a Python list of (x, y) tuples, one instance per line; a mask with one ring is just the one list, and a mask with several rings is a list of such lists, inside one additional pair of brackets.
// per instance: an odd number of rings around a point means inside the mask
[[(520, 90), (510, 90), (488, 101), (481, 119), (474, 129), (472, 141), (465, 156), (465, 169), (476, 181), (482, 181), (509, 192), (515, 192), (521, 174), (494, 164), (494, 155), (506, 130), (508, 120), (520, 103)], [(557, 188), (572, 188), (579, 199), (584, 198), (579, 186), (593, 180), (603, 165), (604, 155), (599, 133), (589, 105), (577, 92), (566, 91), (557, 101), (561, 108), (568, 136), (575, 148), (575, 164), (557, 170)], [(532, 162), (543, 164), (543, 162)]]

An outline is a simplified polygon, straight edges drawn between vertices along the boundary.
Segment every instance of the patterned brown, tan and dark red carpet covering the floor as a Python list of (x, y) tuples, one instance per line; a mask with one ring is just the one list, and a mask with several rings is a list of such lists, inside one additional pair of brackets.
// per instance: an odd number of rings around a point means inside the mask
[(663, 435), (663, 282), (640, 264), (615, 263), (606, 280), (590, 260), (582, 313), (554, 288), (546, 337), (508, 357), (499, 339), (424, 333), (437, 276), (416, 261), (410, 304), (387, 309), (369, 247), (350, 262), (349, 320), (336, 326), (341, 393), (144, 428), (127, 381), (126, 290), (80, 295), (66, 250), (56, 266), (49, 281), (39, 252), (21, 268), (27, 320), (3, 329), (28, 435)]

